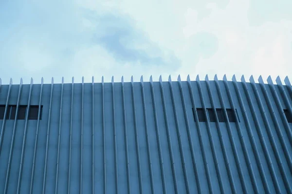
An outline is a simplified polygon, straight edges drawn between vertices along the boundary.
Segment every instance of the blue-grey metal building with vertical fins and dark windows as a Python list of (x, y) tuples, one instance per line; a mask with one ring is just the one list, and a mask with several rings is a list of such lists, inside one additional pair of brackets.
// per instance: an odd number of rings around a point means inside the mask
[(0, 85), (0, 193), (292, 193), (292, 86)]

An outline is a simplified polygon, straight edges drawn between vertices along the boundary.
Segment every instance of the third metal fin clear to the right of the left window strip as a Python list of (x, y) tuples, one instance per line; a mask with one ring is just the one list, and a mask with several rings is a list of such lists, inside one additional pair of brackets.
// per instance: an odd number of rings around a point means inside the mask
[(73, 127), (73, 95), (74, 94), (74, 77), (72, 77), (72, 88), (71, 88), (71, 116), (70, 116), (70, 144), (69, 144), (69, 167), (68, 167), (68, 188), (67, 193), (70, 194), (71, 187), (71, 157), (72, 157), (72, 127)]

